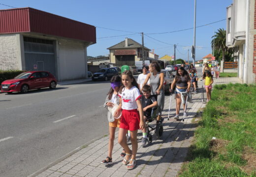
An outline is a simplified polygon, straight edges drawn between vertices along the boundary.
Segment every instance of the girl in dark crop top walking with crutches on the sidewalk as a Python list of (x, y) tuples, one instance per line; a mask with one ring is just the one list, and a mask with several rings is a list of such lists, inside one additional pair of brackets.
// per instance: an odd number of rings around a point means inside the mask
[(174, 86), (176, 86), (176, 89), (175, 89), (176, 115), (174, 119), (179, 120), (181, 103), (183, 104), (184, 117), (187, 116), (187, 113), (185, 112), (186, 101), (188, 100), (187, 96), (191, 88), (190, 75), (184, 67), (178, 68), (175, 78), (171, 84), (170, 92), (172, 92)]

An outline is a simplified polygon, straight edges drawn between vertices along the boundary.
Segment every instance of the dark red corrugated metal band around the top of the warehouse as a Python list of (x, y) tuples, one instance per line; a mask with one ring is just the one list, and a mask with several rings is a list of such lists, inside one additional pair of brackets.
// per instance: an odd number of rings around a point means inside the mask
[(0, 10), (0, 22), (0, 34), (36, 32), (96, 43), (94, 26), (31, 7)]

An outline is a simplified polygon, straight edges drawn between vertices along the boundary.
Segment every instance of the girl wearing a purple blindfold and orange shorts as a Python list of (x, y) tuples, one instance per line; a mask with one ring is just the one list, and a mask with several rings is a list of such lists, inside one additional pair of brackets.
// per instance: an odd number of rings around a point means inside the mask
[[(120, 83), (121, 83), (121, 77), (120, 76), (113, 76), (110, 80), (111, 82), (111, 88), (109, 92), (107, 93), (107, 97), (104, 103), (105, 108), (113, 108), (114, 105), (119, 105), (119, 96), (118, 96), (118, 91), (120, 88)], [(107, 113), (107, 118), (109, 121), (109, 143), (108, 143), (108, 156), (105, 160), (102, 160), (102, 164), (105, 165), (111, 165), (112, 162), (112, 151), (114, 147), (114, 139), (115, 139), (115, 131), (116, 127), (119, 127), (120, 125), (120, 119), (121, 118), (114, 118), (112, 113), (108, 111)], [(125, 156), (126, 153), (123, 149), (123, 152), (121, 153), (121, 156)]]

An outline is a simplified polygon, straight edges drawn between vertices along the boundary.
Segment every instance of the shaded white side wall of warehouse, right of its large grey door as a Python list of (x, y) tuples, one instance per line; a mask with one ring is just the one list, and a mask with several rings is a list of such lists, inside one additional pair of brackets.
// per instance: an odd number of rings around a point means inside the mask
[(59, 80), (84, 79), (86, 77), (84, 43), (60, 39), (58, 50)]

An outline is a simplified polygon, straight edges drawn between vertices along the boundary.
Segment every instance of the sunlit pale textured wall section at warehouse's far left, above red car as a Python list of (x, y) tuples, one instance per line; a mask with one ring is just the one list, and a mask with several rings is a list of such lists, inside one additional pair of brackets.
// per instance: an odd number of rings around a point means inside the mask
[(0, 34), (0, 70), (22, 70), (20, 34)]

